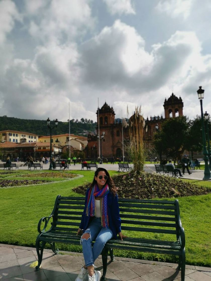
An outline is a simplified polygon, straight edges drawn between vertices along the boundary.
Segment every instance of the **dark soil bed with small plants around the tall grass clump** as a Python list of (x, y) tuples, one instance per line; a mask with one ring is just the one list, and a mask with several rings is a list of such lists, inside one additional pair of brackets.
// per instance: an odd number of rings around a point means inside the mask
[[(161, 176), (151, 173), (129, 172), (124, 175), (113, 176), (116, 187), (118, 187), (118, 197), (132, 199), (152, 199), (152, 198), (172, 198), (191, 195), (208, 194), (211, 189), (192, 183), (188, 183), (179, 178)], [(90, 183), (75, 187), (77, 193), (86, 194), (86, 189)]]

